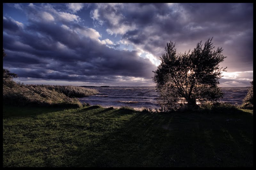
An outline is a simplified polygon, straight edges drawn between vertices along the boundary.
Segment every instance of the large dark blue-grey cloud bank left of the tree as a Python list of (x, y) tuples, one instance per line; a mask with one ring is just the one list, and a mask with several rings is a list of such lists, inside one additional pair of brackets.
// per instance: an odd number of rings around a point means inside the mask
[(109, 48), (100, 42), (94, 29), (77, 23), (56, 24), (50, 13), (46, 22), (40, 18), (43, 11), (32, 12), (28, 15), (32, 16), (29, 25), (23, 29), (10, 18), (5, 19), (8, 25), (4, 26), (3, 47), (8, 56), (4, 66), (15, 68), (12, 71), (19, 77), (97, 82), (112, 77), (108, 79), (111, 82), (115, 80), (113, 75), (153, 76), (156, 66), (136, 51)]

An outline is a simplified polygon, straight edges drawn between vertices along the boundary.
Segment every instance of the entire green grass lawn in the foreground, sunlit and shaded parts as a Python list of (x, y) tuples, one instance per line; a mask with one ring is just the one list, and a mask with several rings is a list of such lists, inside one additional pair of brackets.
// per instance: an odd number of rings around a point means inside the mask
[(3, 166), (253, 166), (253, 113), (3, 108)]

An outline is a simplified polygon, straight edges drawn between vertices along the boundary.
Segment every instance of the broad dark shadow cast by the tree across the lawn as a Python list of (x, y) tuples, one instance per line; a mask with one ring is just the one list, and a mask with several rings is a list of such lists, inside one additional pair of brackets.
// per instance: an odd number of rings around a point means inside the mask
[[(94, 142), (90, 145), (78, 144), (79, 149), (70, 152), (73, 158), (71, 165), (253, 165), (253, 135), (250, 132), (246, 133), (248, 130), (252, 132), (252, 124), (241, 129), (236, 128), (237, 122), (230, 125), (214, 118), (209, 120), (207, 116), (198, 116), (196, 119), (194, 115), (191, 119), (186, 114), (130, 114), (118, 109), (103, 117), (107, 121), (113, 117), (124, 117), (125, 113), (130, 116), (126, 120), (119, 120), (117, 128), (111, 131), (98, 129), (104, 135), (97, 137), (97, 140), (92, 137), (91, 140)], [(111, 125), (111, 122), (107, 122)], [(240, 125), (245, 123), (242, 121)], [(164, 129), (165, 124), (172, 126), (173, 129)]]

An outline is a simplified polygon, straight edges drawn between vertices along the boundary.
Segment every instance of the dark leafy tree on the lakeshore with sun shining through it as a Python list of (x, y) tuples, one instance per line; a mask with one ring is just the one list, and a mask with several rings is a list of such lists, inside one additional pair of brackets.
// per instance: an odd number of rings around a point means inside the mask
[(213, 50), (212, 39), (208, 39), (204, 48), (202, 41), (197, 43), (193, 51), (184, 54), (176, 53), (175, 44), (170, 41), (165, 47), (165, 54), (160, 57), (153, 78), (156, 89), (160, 93), (159, 103), (167, 110), (175, 110), (182, 106), (197, 108), (198, 102), (217, 101), (222, 98), (219, 79), (223, 77), (219, 63), (226, 56), (222, 48)]

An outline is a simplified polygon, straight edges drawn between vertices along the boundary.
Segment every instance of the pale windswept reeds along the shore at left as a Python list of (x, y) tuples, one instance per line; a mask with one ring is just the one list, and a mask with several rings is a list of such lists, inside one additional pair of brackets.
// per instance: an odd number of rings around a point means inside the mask
[(76, 97), (97, 94), (98, 91), (77, 86), (60, 85), (22, 85), (3, 86), (5, 104), (16, 106), (61, 106), (82, 107)]

